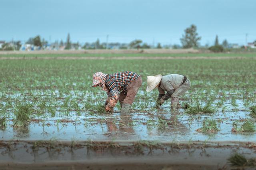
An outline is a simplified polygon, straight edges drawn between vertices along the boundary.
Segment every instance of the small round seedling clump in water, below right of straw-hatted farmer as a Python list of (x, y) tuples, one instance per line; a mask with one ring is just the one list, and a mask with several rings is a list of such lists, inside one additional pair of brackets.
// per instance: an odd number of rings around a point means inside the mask
[(219, 131), (216, 120), (204, 119), (203, 126), (196, 130), (203, 133), (216, 133)]

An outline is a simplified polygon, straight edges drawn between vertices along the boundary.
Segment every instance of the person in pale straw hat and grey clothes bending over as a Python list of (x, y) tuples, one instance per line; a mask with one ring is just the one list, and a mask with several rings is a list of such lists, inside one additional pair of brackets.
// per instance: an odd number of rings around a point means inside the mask
[[(180, 108), (178, 97), (190, 88), (190, 80), (186, 76), (179, 74), (148, 76), (147, 83), (146, 91), (148, 92), (158, 87), (158, 105), (162, 105), (164, 101), (171, 97), (172, 109)], [(166, 94), (165, 91), (167, 91)]]

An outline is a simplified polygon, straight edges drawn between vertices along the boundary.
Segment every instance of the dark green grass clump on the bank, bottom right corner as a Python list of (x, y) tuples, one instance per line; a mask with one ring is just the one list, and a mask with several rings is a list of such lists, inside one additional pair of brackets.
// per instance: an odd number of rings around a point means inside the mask
[(256, 166), (256, 158), (246, 159), (243, 155), (235, 153), (228, 158), (232, 166)]

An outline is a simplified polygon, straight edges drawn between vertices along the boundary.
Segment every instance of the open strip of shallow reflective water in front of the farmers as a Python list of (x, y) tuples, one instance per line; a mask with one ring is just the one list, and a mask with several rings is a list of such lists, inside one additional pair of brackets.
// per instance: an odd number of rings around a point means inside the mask
[[(239, 106), (242, 104), (237, 100)], [(165, 140), (165, 141), (243, 141), (256, 142), (255, 133), (232, 133), (234, 121), (250, 118), (249, 110), (244, 107), (233, 107), (230, 101), (214, 114), (187, 115), (184, 109), (170, 111), (169, 105), (160, 109), (150, 109), (150, 103), (143, 112), (136, 108), (129, 115), (120, 115), (118, 109), (113, 114), (98, 115), (90, 112), (76, 115), (56, 113), (50, 117), (46, 113), (34, 116), (34, 120), (24, 128), (13, 127), (12, 116), (7, 127), (0, 130), (2, 140)], [(216, 134), (203, 134), (196, 129), (202, 127), (204, 119), (216, 119), (220, 131)]]

